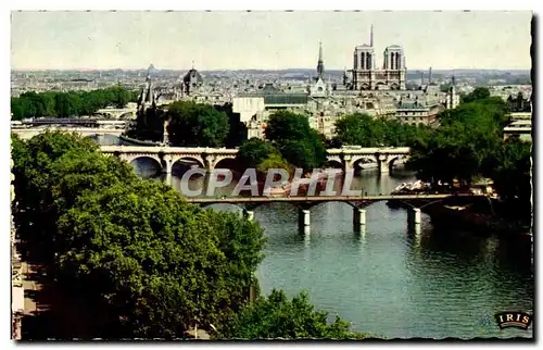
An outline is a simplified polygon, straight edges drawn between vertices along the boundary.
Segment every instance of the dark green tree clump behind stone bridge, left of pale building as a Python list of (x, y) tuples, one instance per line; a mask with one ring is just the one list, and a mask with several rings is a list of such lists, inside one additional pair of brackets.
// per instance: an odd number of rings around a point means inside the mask
[(168, 105), (171, 143), (174, 146), (223, 147), (230, 124), (225, 112), (213, 105), (179, 101)]

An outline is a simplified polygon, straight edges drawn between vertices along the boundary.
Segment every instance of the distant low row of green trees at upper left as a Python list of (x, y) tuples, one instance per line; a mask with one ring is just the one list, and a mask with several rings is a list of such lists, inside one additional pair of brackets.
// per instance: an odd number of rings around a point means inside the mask
[(92, 115), (110, 105), (124, 108), (131, 100), (134, 93), (121, 86), (92, 91), (30, 91), (11, 98), (11, 112), (14, 121), (40, 116)]

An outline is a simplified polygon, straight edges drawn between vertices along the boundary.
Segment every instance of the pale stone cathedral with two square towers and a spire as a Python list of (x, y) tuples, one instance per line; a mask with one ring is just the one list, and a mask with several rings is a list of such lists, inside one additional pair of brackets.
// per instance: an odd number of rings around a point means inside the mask
[(403, 48), (389, 46), (383, 52), (382, 67), (377, 65), (374, 48), (374, 26), (371, 26), (369, 45), (356, 46), (353, 53), (353, 68), (345, 75), (344, 84), (351, 90), (405, 90), (407, 68)]

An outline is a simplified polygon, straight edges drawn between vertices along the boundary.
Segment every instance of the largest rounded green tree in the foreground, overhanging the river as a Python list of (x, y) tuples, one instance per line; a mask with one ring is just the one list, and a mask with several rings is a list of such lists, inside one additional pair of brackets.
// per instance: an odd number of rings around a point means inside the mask
[(64, 285), (108, 315), (101, 332), (115, 337), (225, 324), (247, 301), (264, 242), (257, 224), (143, 180), (87, 192), (59, 227)]

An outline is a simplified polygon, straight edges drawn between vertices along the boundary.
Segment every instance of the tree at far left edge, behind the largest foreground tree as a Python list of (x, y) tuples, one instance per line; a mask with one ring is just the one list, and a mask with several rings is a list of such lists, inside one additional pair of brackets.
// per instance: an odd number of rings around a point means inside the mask
[(14, 137), (12, 157), (17, 235), (40, 245), (41, 258), (47, 260), (54, 255), (53, 233), (63, 208), (84, 191), (136, 178), (129, 165), (102, 157), (96, 142), (75, 134), (46, 132), (28, 141)]

